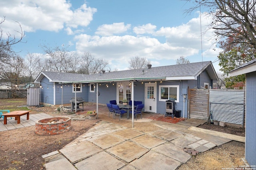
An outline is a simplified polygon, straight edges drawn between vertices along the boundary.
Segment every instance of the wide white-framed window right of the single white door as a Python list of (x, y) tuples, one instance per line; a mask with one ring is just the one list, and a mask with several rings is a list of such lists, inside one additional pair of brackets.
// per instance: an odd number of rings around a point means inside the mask
[(159, 101), (175, 100), (179, 102), (179, 86), (159, 86)]

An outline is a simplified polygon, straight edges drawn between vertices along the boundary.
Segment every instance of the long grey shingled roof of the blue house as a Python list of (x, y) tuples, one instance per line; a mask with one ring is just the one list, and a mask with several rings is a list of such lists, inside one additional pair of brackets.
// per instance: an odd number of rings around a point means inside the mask
[(129, 80), (196, 80), (203, 71), (207, 71), (212, 80), (218, 80), (211, 61), (176, 64), (133, 70), (100, 72), (97, 74), (76, 74), (42, 71), (35, 82), (46, 76), (50, 82), (112, 82)]

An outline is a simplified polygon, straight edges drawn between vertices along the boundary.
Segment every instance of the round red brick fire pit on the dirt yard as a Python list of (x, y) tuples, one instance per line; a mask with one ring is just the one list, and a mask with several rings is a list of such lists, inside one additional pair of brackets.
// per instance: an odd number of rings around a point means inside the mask
[(70, 130), (70, 117), (50, 117), (36, 122), (36, 134), (57, 135)]

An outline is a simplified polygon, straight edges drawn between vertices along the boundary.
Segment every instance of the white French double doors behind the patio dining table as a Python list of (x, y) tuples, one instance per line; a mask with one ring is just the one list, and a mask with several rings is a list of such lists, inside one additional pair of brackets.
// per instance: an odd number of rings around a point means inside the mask
[(131, 100), (131, 92), (132, 92), (132, 88), (131, 85), (128, 83), (120, 83), (117, 84), (117, 89), (118, 89), (118, 102), (119, 104), (122, 103), (122, 100), (124, 98), (126, 98), (128, 101)]

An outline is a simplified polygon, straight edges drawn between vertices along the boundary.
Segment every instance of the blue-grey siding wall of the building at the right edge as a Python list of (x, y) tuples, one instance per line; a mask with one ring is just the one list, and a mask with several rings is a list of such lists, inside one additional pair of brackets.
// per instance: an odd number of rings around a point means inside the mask
[(256, 165), (256, 72), (246, 74), (246, 145), (245, 158)]

